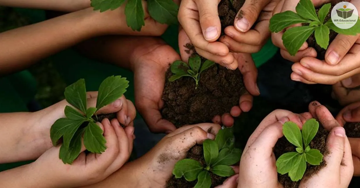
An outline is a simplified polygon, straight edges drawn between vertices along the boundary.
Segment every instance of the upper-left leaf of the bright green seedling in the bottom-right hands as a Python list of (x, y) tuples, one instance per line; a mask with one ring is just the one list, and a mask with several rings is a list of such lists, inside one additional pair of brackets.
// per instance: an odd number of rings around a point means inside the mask
[(291, 144), (303, 148), (300, 128), (296, 123), (291, 121), (285, 122), (283, 125), (283, 133)]

